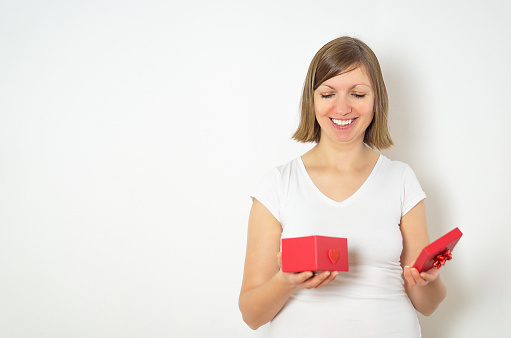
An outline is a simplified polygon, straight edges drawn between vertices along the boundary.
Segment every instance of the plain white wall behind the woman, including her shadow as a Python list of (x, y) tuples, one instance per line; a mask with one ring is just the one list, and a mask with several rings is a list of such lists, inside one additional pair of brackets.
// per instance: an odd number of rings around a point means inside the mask
[(264, 336), (237, 309), (248, 196), (310, 147), (289, 139), (308, 63), (348, 34), (379, 56), (386, 155), (421, 180), (431, 237), (464, 232), (424, 337), (502, 337), (510, 17), (497, 0), (0, 1), (0, 336)]

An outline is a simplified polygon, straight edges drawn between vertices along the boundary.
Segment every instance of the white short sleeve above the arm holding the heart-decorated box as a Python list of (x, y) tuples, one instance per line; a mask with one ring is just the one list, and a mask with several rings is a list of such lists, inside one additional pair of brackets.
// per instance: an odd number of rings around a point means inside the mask
[(272, 215), (280, 222), (280, 172), (277, 168), (264, 176), (263, 180), (250, 196), (261, 202)]

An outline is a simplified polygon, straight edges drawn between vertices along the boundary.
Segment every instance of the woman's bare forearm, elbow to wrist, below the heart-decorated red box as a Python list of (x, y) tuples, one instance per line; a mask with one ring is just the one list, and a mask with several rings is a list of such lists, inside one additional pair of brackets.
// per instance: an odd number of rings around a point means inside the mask
[(253, 330), (268, 323), (279, 313), (295, 288), (279, 272), (267, 283), (244, 291), (239, 299), (243, 320)]

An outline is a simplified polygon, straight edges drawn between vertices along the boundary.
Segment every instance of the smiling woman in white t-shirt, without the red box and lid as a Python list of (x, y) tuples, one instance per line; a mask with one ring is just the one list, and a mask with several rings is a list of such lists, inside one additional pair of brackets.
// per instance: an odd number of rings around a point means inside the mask
[[(411, 269), (429, 244), (424, 198), (392, 146), (376, 56), (341, 37), (312, 60), (293, 138), (314, 148), (270, 172), (252, 196), (239, 307), (274, 337), (420, 337), (414, 308), (445, 297), (439, 270)], [(350, 271), (284, 273), (281, 238), (348, 239)]]

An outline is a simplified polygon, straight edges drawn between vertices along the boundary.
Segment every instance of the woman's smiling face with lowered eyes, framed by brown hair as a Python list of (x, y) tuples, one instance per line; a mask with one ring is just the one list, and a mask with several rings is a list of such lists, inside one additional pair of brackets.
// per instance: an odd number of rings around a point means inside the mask
[(357, 67), (323, 82), (314, 91), (314, 111), (326, 137), (343, 144), (364, 142), (374, 115), (374, 91), (364, 68)]

